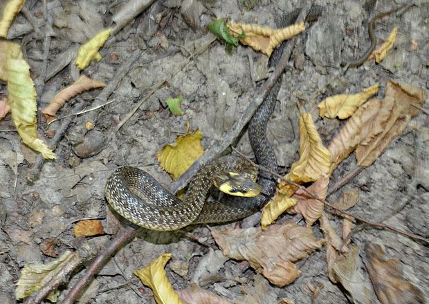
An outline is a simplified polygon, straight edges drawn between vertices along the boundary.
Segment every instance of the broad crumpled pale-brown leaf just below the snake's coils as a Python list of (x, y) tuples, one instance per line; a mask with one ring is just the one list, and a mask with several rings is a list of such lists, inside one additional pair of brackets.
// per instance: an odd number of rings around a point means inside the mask
[(311, 227), (300, 227), (293, 222), (271, 225), (265, 231), (259, 228), (212, 229), (212, 236), (223, 254), (236, 260), (248, 260), (250, 266), (280, 287), (292, 283), (301, 274), (292, 262), (307, 258), (324, 242), (316, 239)]

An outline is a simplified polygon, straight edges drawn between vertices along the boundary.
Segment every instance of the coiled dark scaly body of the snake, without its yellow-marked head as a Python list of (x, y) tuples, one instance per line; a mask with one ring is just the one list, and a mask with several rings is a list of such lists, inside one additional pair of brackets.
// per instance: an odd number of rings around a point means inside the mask
[[(312, 6), (307, 19), (317, 18), (323, 10)], [(298, 17), (300, 9), (282, 18), (279, 26), (287, 26)], [(316, 17), (315, 17), (316, 16)], [(285, 43), (271, 55), (271, 66), (280, 61)], [(275, 153), (266, 138), (266, 126), (274, 111), (281, 77), (266, 95), (248, 123), (248, 137), (259, 166), (277, 171)], [(212, 188), (213, 176), (225, 172), (247, 172), (257, 175), (257, 184), (264, 195), (254, 198), (231, 197), (227, 200), (206, 201)], [(277, 181), (266, 171), (259, 174), (248, 160), (235, 155), (223, 156), (208, 162), (192, 178), (183, 200), (176, 198), (152, 175), (136, 167), (122, 167), (107, 179), (104, 193), (109, 205), (130, 222), (156, 231), (173, 231), (188, 225), (231, 222), (259, 211), (275, 193)]]

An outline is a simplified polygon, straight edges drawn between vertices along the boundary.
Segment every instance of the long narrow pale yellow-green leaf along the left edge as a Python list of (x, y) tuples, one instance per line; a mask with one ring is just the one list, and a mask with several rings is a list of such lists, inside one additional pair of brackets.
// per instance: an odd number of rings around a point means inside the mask
[(20, 53), (19, 46), (8, 45), (6, 70), (12, 120), (24, 144), (42, 153), (44, 158), (55, 159), (53, 151), (37, 138), (36, 91), (33, 80), (30, 78), (30, 66), (24, 59), (16, 59)]

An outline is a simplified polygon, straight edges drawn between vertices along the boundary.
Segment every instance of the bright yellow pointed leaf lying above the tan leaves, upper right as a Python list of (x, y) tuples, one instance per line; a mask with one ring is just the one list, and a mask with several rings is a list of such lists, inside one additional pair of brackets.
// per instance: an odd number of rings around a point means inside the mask
[(320, 117), (335, 118), (340, 120), (350, 117), (356, 109), (367, 101), (369, 97), (378, 93), (380, 84), (374, 84), (369, 88), (364, 88), (357, 94), (340, 94), (327, 97), (318, 104)]

